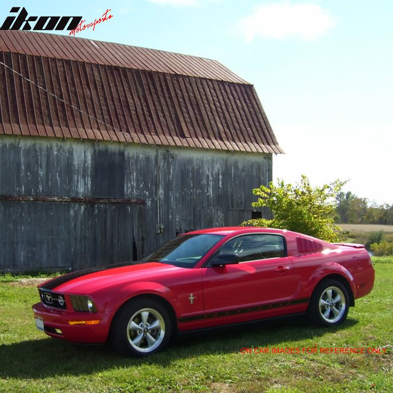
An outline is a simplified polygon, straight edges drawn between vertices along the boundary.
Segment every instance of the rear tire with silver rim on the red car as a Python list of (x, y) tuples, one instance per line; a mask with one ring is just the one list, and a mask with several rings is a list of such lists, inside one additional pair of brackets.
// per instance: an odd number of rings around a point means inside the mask
[(308, 314), (315, 326), (336, 326), (345, 321), (348, 309), (349, 295), (345, 285), (331, 279), (315, 287)]

